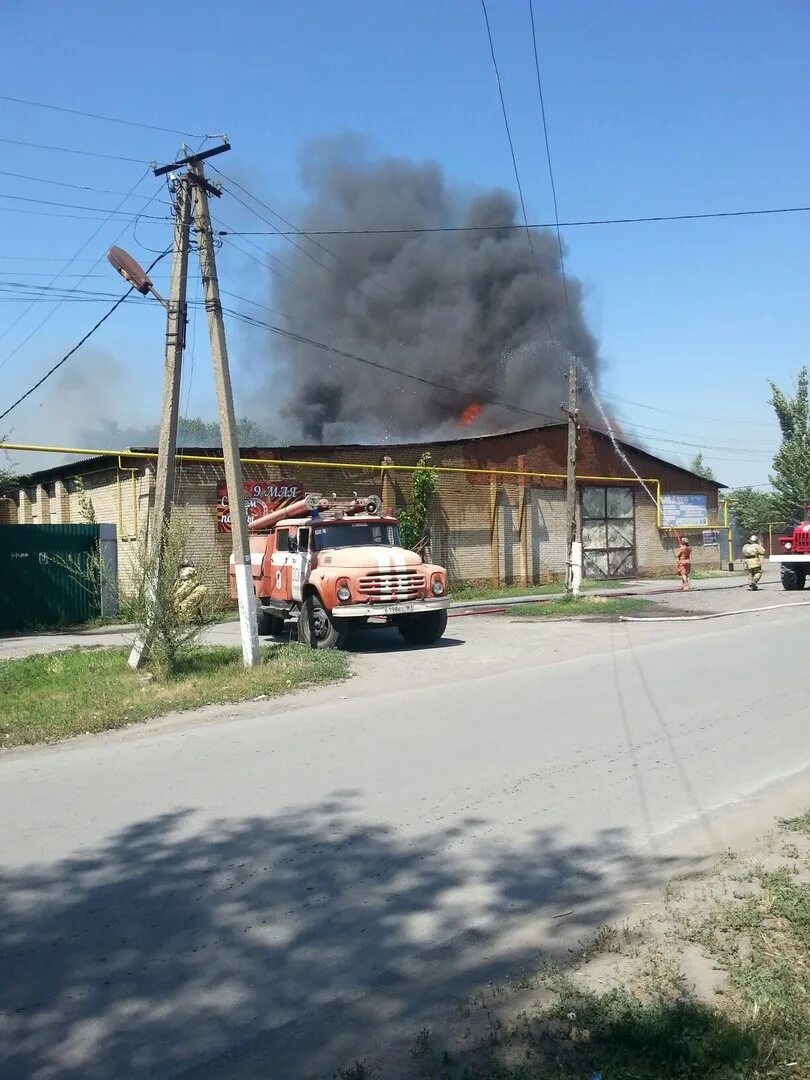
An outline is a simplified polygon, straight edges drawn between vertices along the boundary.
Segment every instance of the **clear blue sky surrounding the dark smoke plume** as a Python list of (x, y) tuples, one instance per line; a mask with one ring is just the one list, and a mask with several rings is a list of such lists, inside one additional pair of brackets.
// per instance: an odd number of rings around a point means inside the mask
[[(201, 0), (193, 19), (188, 11), (151, 0), (9, 2), (0, 93), (227, 132), (233, 150), (222, 167), (288, 215), (301, 194), (300, 146), (345, 131), (370, 136), (387, 153), (435, 160), (461, 186), (514, 190), (478, 0)], [(489, 12), (528, 215), (550, 220), (527, 0), (489, 0)], [(537, 2), (536, 14), (563, 220), (810, 203), (810, 8), (802, 0)], [(165, 221), (141, 219), (135, 234), (132, 217), (104, 224), (121, 201), (105, 192), (129, 192), (143, 177), (122, 208), (141, 210), (156, 192), (164, 199), (144, 174), (152, 159), (173, 158), (177, 136), (3, 100), (0, 136), (136, 159), (0, 141), (4, 195), (104, 207), (100, 220), (90, 220), (90, 212), (0, 198), (0, 281), (44, 285), (64, 268), (57, 284), (118, 293), (107, 264), (93, 261), (119, 234), (144, 262), (147, 248), (166, 245)], [(225, 202), (218, 212), (229, 225), (261, 228)], [(166, 212), (157, 200), (145, 211)], [(70, 213), (81, 219), (45, 216)], [(789, 384), (808, 360), (810, 215), (570, 228), (565, 240), (600, 342), (605, 400), (627, 430), (673, 459), (703, 447), (727, 483), (764, 483), (778, 442), (767, 379)], [(85, 272), (94, 276), (68, 276)], [(268, 303), (268, 276), (222, 248), (225, 287)], [(0, 295), (14, 296), (17, 284)], [(66, 302), (37, 330), (53, 305), (26, 307), (0, 303), (3, 406), (105, 310)], [(122, 426), (153, 420), (162, 334), (158, 305), (121, 309), (63, 379), (3, 424), (16, 440), (54, 443), (75, 437), (78, 409)], [(184, 400), (191, 414), (213, 416), (202, 320), (190, 336), (194, 374)], [(249, 410), (256, 342), (237, 329), (230, 343), (238, 405)]]

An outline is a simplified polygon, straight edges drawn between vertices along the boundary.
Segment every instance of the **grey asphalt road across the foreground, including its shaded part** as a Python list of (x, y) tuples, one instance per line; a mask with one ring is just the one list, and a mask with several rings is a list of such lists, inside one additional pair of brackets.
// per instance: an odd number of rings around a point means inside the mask
[(3, 755), (0, 1077), (330, 1077), (565, 956), (728, 808), (799, 799), (809, 632), (470, 617), (321, 693)]

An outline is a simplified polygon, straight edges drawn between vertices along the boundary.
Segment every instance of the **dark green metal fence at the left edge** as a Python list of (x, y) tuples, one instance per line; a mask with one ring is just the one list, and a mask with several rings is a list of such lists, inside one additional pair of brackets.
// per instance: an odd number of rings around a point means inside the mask
[(0, 525), (0, 634), (100, 613), (99, 526)]

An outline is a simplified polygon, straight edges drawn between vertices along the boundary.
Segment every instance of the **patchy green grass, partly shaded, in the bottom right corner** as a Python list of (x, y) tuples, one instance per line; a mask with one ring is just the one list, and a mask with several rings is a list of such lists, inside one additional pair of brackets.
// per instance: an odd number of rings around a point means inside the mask
[[(502, 1023), (435, 1080), (783, 1080), (810, 1077), (810, 886), (758, 869), (760, 893), (717, 901), (693, 929), (727, 976), (701, 1000), (678, 969), (650, 966), (640, 984), (603, 993), (561, 975), (552, 1005)], [(432, 1036), (441, 1040), (441, 1032)], [(438, 1043), (441, 1045), (441, 1042)], [(447, 1056), (447, 1055), (445, 1055)], [(432, 1061), (437, 1062), (437, 1055)]]

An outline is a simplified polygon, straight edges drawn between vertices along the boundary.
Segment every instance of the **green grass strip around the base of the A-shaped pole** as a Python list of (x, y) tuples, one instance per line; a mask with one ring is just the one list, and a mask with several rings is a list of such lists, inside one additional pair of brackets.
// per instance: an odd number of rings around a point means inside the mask
[(275, 697), (349, 675), (345, 653), (298, 645), (262, 648), (246, 671), (240, 649), (200, 646), (175, 678), (147, 680), (126, 664), (129, 649), (68, 649), (0, 663), (0, 747), (53, 742), (84, 732), (198, 708)]

